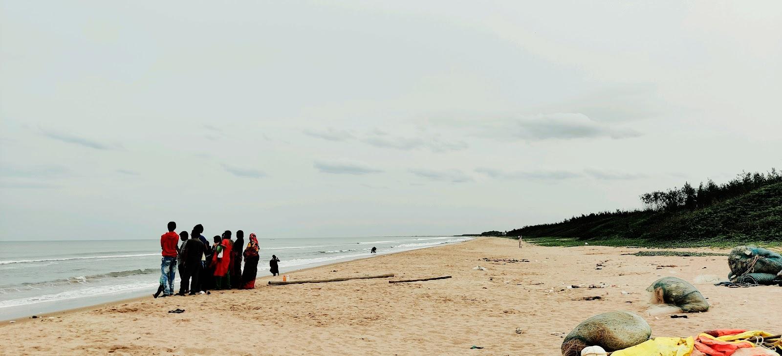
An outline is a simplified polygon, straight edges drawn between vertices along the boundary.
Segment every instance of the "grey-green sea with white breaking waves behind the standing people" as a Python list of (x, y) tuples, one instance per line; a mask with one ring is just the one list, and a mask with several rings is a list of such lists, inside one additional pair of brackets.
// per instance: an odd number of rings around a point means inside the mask
[[(285, 237), (258, 239), (258, 276), (455, 244), (470, 237)], [(245, 241), (247, 237), (245, 237)], [(211, 241), (210, 241), (211, 242)], [(0, 242), (0, 320), (149, 295), (160, 280), (160, 240)], [(377, 254), (370, 254), (377, 247)], [(176, 277), (177, 285), (179, 276)]]

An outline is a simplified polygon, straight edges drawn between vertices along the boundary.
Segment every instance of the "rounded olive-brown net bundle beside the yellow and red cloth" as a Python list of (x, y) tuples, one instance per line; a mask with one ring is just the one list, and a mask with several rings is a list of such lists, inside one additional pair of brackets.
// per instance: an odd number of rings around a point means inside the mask
[(649, 340), (651, 326), (631, 312), (607, 312), (584, 320), (562, 341), (563, 356), (579, 356), (587, 346), (612, 352)]

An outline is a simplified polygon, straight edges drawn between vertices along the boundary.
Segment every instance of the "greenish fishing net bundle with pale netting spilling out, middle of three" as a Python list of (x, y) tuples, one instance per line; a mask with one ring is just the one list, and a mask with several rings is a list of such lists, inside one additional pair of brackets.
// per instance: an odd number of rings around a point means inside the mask
[(651, 294), (651, 304), (669, 304), (682, 312), (706, 312), (708, 301), (692, 284), (676, 277), (662, 277), (646, 289)]

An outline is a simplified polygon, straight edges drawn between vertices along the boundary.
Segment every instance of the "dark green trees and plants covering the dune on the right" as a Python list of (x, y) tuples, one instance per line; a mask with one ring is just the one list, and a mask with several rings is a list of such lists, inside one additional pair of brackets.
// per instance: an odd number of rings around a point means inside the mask
[(723, 185), (641, 195), (649, 208), (600, 212), (504, 233), (546, 246), (782, 245), (782, 174), (744, 173)]

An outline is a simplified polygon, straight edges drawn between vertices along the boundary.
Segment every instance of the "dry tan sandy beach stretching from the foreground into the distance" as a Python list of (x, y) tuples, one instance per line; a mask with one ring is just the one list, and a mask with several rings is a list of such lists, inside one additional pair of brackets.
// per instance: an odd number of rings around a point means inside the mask
[[(782, 333), (780, 287), (697, 285), (712, 304), (709, 312), (688, 319), (647, 315), (644, 290), (655, 279), (693, 281), (701, 274), (724, 278), (729, 269), (723, 256), (622, 255), (636, 251), (532, 244), (519, 248), (516, 240), (484, 237), (289, 273), (294, 280), (382, 273), (396, 273), (392, 279), (453, 276), (450, 279), (268, 286), (267, 280), (281, 277), (263, 277), (256, 280), (255, 290), (146, 297), (5, 323), (0, 326), (0, 353), (558, 355), (562, 336), (576, 324), (617, 310), (643, 316), (653, 336), (691, 336), (717, 328)], [(487, 270), (473, 270), (475, 265)], [(259, 269), (266, 272), (264, 266)], [(566, 288), (600, 283), (610, 287)], [(594, 296), (602, 299), (579, 300)], [(175, 308), (186, 312), (168, 313)], [(471, 350), (472, 345), (484, 348)]]

